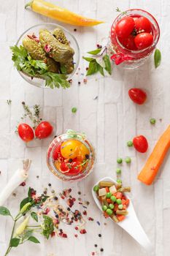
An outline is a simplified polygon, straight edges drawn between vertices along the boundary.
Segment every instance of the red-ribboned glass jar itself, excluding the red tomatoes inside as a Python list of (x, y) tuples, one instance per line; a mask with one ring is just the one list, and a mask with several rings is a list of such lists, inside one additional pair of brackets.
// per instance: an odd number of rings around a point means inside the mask
[[(145, 18), (150, 20), (150, 23), (152, 25), (151, 33), (153, 36), (153, 42), (152, 45), (150, 45), (148, 48), (142, 50), (128, 50), (120, 43), (115, 33), (115, 26), (120, 19), (124, 18), (127, 15), (131, 16), (132, 18), (139, 18), (144, 16)], [(139, 9), (127, 10), (118, 15), (112, 24), (109, 47), (112, 54), (114, 54), (115, 58), (125, 57), (122, 63), (120, 64), (120, 67), (124, 67), (126, 69), (133, 69), (144, 64), (144, 62), (151, 56), (153, 50), (155, 50), (155, 47), (158, 43), (159, 37), (160, 29), (158, 23), (149, 12)]]

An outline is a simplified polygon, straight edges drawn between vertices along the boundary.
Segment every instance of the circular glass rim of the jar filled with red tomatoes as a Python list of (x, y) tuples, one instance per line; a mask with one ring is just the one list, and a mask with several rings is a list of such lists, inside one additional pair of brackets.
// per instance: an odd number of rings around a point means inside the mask
[[(142, 50), (129, 50), (129, 49), (125, 48), (125, 47), (120, 43), (120, 40), (118, 39), (117, 35), (115, 35), (115, 37), (116, 37), (116, 39), (117, 39), (118, 45), (120, 46), (120, 48), (122, 48), (123, 50), (127, 51), (127, 53), (133, 53), (134, 55), (135, 55), (135, 54), (139, 54), (139, 53), (144, 53), (144, 52), (147, 51), (147, 50), (152, 50), (152, 48), (154, 48), (155, 45), (157, 45), (158, 40), (159, 40), (159, 38), (160, 38), (160, 27), (159, 27), (159, 25), (158, 25), (158, 21), (153, 17), (152, 14), (150, 14), (150, 12), (147, 12), (147, 11), (142, 10), (142, 9), (138, 9), (138, 8), (135, 8), (135, 9), (128, 9), (128, 10), (126, 10), (125, 12), (131, 12), (131, 11), (142, 11), (142, 12), (147, 13), (147, 15), (149, 15), (150, 18), (152, 18), (152, 19), (154, 20), (154, 22), (155, 22), (155, 24), (156, 24), (156, 26), (157, 26), (157, 29), (158, 29), (158, 37), (156, 37), (156, 38), (154, 39), (154, 41), (152, 42), (152, 45), (150, 45), (150, 46), (147, 47), (147, 48), (144, 48), (144, 49), (142, 49)], [(116, 23), (118, 20), (120, 20), (121, 17), (125, 17), (125, 15), (127, 15), (127, 14), (126, 14), (126, 13), (120, 13), (120, 15), (118, 15), (118, 16), (115, 18), (115, 20), (114, 20), (113, 23), (112, 23), (111, 33), (112, 33), (112, 29), (113, 29), (113, 28), (115, 29), (115, 23)]]

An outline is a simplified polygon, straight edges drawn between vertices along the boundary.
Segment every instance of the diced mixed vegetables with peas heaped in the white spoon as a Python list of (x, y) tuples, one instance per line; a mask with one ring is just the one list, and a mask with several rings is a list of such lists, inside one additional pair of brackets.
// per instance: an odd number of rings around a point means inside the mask
[(101, 203), (104, 217), (110, 217), (114, 222), (121, 222), (128, 215), (128, 205), (130, 200), (125, 196), (125, 192), (131, 192), (131, 187), (123, 187), (112, 181), (100, 181), (93, 187), (96, 196)]

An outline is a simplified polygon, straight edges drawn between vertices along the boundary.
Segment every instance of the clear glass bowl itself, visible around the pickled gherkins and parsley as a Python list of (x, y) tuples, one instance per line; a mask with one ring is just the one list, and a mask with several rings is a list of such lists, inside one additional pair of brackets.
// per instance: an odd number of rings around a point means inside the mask
[[(35, 34), (36, 36), (39, 35), (39, 30), (40, 29), (47, 29), (49, 31), (53, 31), (56, 28), (60, 28), (63, 30), (64, 34), (66, 35), (66, 38), (68, 39), (68, 41), (70, 42), (70, 46), (74, 49), (74, 70), (71, 74), (68, 75), (67, 80), (70, 80), (72, 78), (72, 75), (74, 75), (74, 72), (76, 71), (78, 65), (79, 65), (79, 61), (80, 61), (80, 48), (79, 45), (77, 43), (77, 39), (75, 39), (75, 37), (67, 30), (65, 29), (63, 26), (60, 26), (58, 24), (55, 23), (41, 23), (35, 26), (31, 26), (31, 28), (27, 29), (26, 31), (23, 32), (23, 34), (21, 34), (21, 36), (18, 38), (18, 41), (16, 42), (16, 45), (23, 45), (23, 38), (26, 37), (28, 34)], [(21, 77), (26, 80), (28, 83), (31, 83), (34, 86), (37, 87), (41, 87), (41, 88), (49, 88), (47, 86), (45, 86), (45, 80), (41, 79), (41, 78), (31, 78), (28, 75), (24, 74), (21, 71), (18, 71), (21, 75)]]

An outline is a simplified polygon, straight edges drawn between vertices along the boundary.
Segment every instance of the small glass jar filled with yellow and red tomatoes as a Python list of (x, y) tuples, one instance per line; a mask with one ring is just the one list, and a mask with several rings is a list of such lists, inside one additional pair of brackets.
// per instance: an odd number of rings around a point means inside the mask
[(85, 134), (68, 130), (54, 138), (47, 150), (47, 166), (62, 181), (78, 181), (93, 169), (95, 152)]

